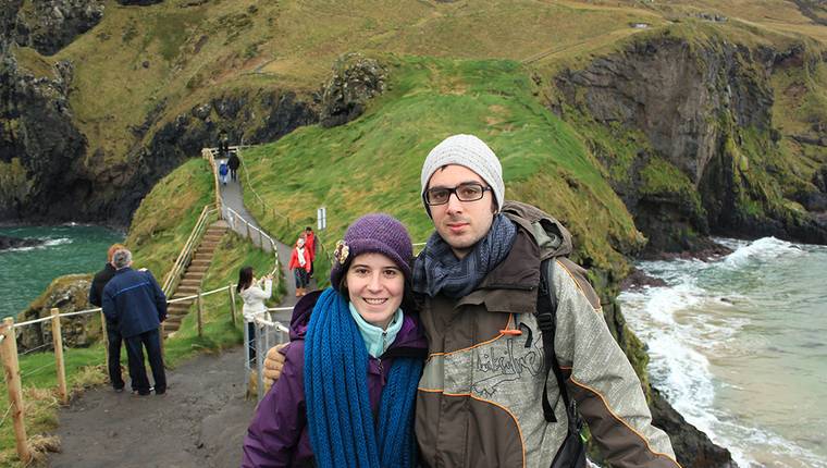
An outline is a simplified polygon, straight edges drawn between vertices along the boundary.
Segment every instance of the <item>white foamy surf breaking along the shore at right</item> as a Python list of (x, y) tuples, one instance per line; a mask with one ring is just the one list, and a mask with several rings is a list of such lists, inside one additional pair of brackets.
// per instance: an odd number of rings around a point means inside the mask
[[(663, 287), (624, 292), (619, 300), (635, 334), (649, 346), (650, 374), (672, 406), (714, 442), (726, 446), (741, 467), (827, 467), (824, 458), (770, 430), (750, 427), (731, 409), (715, 406), (716, 381), (707, 356), (726, 356), (744, 348), (762, 349), (766, 340), (740, 333), (751, 323), (753, 299), (730, 291), (732, 278), (780, 256), (806, 255), (806, 247), (774, 237), (755, 242), (716, 239), (735, 251), (718, 262), (672, 260), (638, 267), (666, 281)], [(818, 247), (820, 248), (820, 247)], [(703, 313), (698, 313), (703, 310)], [(745, 336), (745, 335), (749, 335)], [(770, 454), (769, 459), (765, 459)], [(783, 460), (783, 461), (779, 461)], [(802, 464), (803, 463), (803, 464)]]

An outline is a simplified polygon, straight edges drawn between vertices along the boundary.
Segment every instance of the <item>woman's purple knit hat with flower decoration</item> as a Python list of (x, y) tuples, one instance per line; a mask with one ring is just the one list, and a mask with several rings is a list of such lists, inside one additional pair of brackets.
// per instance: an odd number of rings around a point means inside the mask
[(405, 225), (385, 213), (366, 214), (356, 220), (345, 232), (344, 241), (336, 243), (330, 284), (338, 291), (342, 278), (350, 267), (350, 260), (366, 253), (382, 254), (393, 260), (406, 279), (410, 279), (410, 260), (414, 247)]

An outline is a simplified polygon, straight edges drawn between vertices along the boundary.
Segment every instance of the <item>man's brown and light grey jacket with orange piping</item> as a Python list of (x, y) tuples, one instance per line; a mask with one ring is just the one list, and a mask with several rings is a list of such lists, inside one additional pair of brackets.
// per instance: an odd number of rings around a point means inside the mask
[[(534, 311), (540, 263), (568, 255), (571, 237), (528, 205), (506, 202), (503, 212), (518, 226), (506, 259), (459, 300), (422, 299), (429, 358), (416, 433), (425, 466), (550, 467), (567, 433), (551, 372), (548, 401), (558, 422), (543, 416), (546, 373)], [(652, 426), (640, 381), (582, 272), (558, 258), (552, 280), (558, 298), (554, 343), (569, 394), (614, 468), (679, 467), (669, 438)]]

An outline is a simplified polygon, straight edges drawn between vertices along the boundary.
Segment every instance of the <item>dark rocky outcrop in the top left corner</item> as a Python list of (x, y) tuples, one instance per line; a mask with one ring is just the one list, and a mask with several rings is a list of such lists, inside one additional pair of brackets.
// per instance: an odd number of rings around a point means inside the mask
[(103, 17), (102, 0), (40, 0), (18, 12), (16, 41), (51, 56)]

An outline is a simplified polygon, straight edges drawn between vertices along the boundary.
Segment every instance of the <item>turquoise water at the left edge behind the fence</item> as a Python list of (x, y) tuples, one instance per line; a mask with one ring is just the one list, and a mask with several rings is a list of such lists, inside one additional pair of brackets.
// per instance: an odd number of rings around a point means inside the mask
[(0, 250), (0, 318), (25, 310), (58, 276), (100, 270), (109, 246), (124, 238), (123, 233), (90, 225), (0, 227), (0, 234), (46, 241), (39, 247)]

